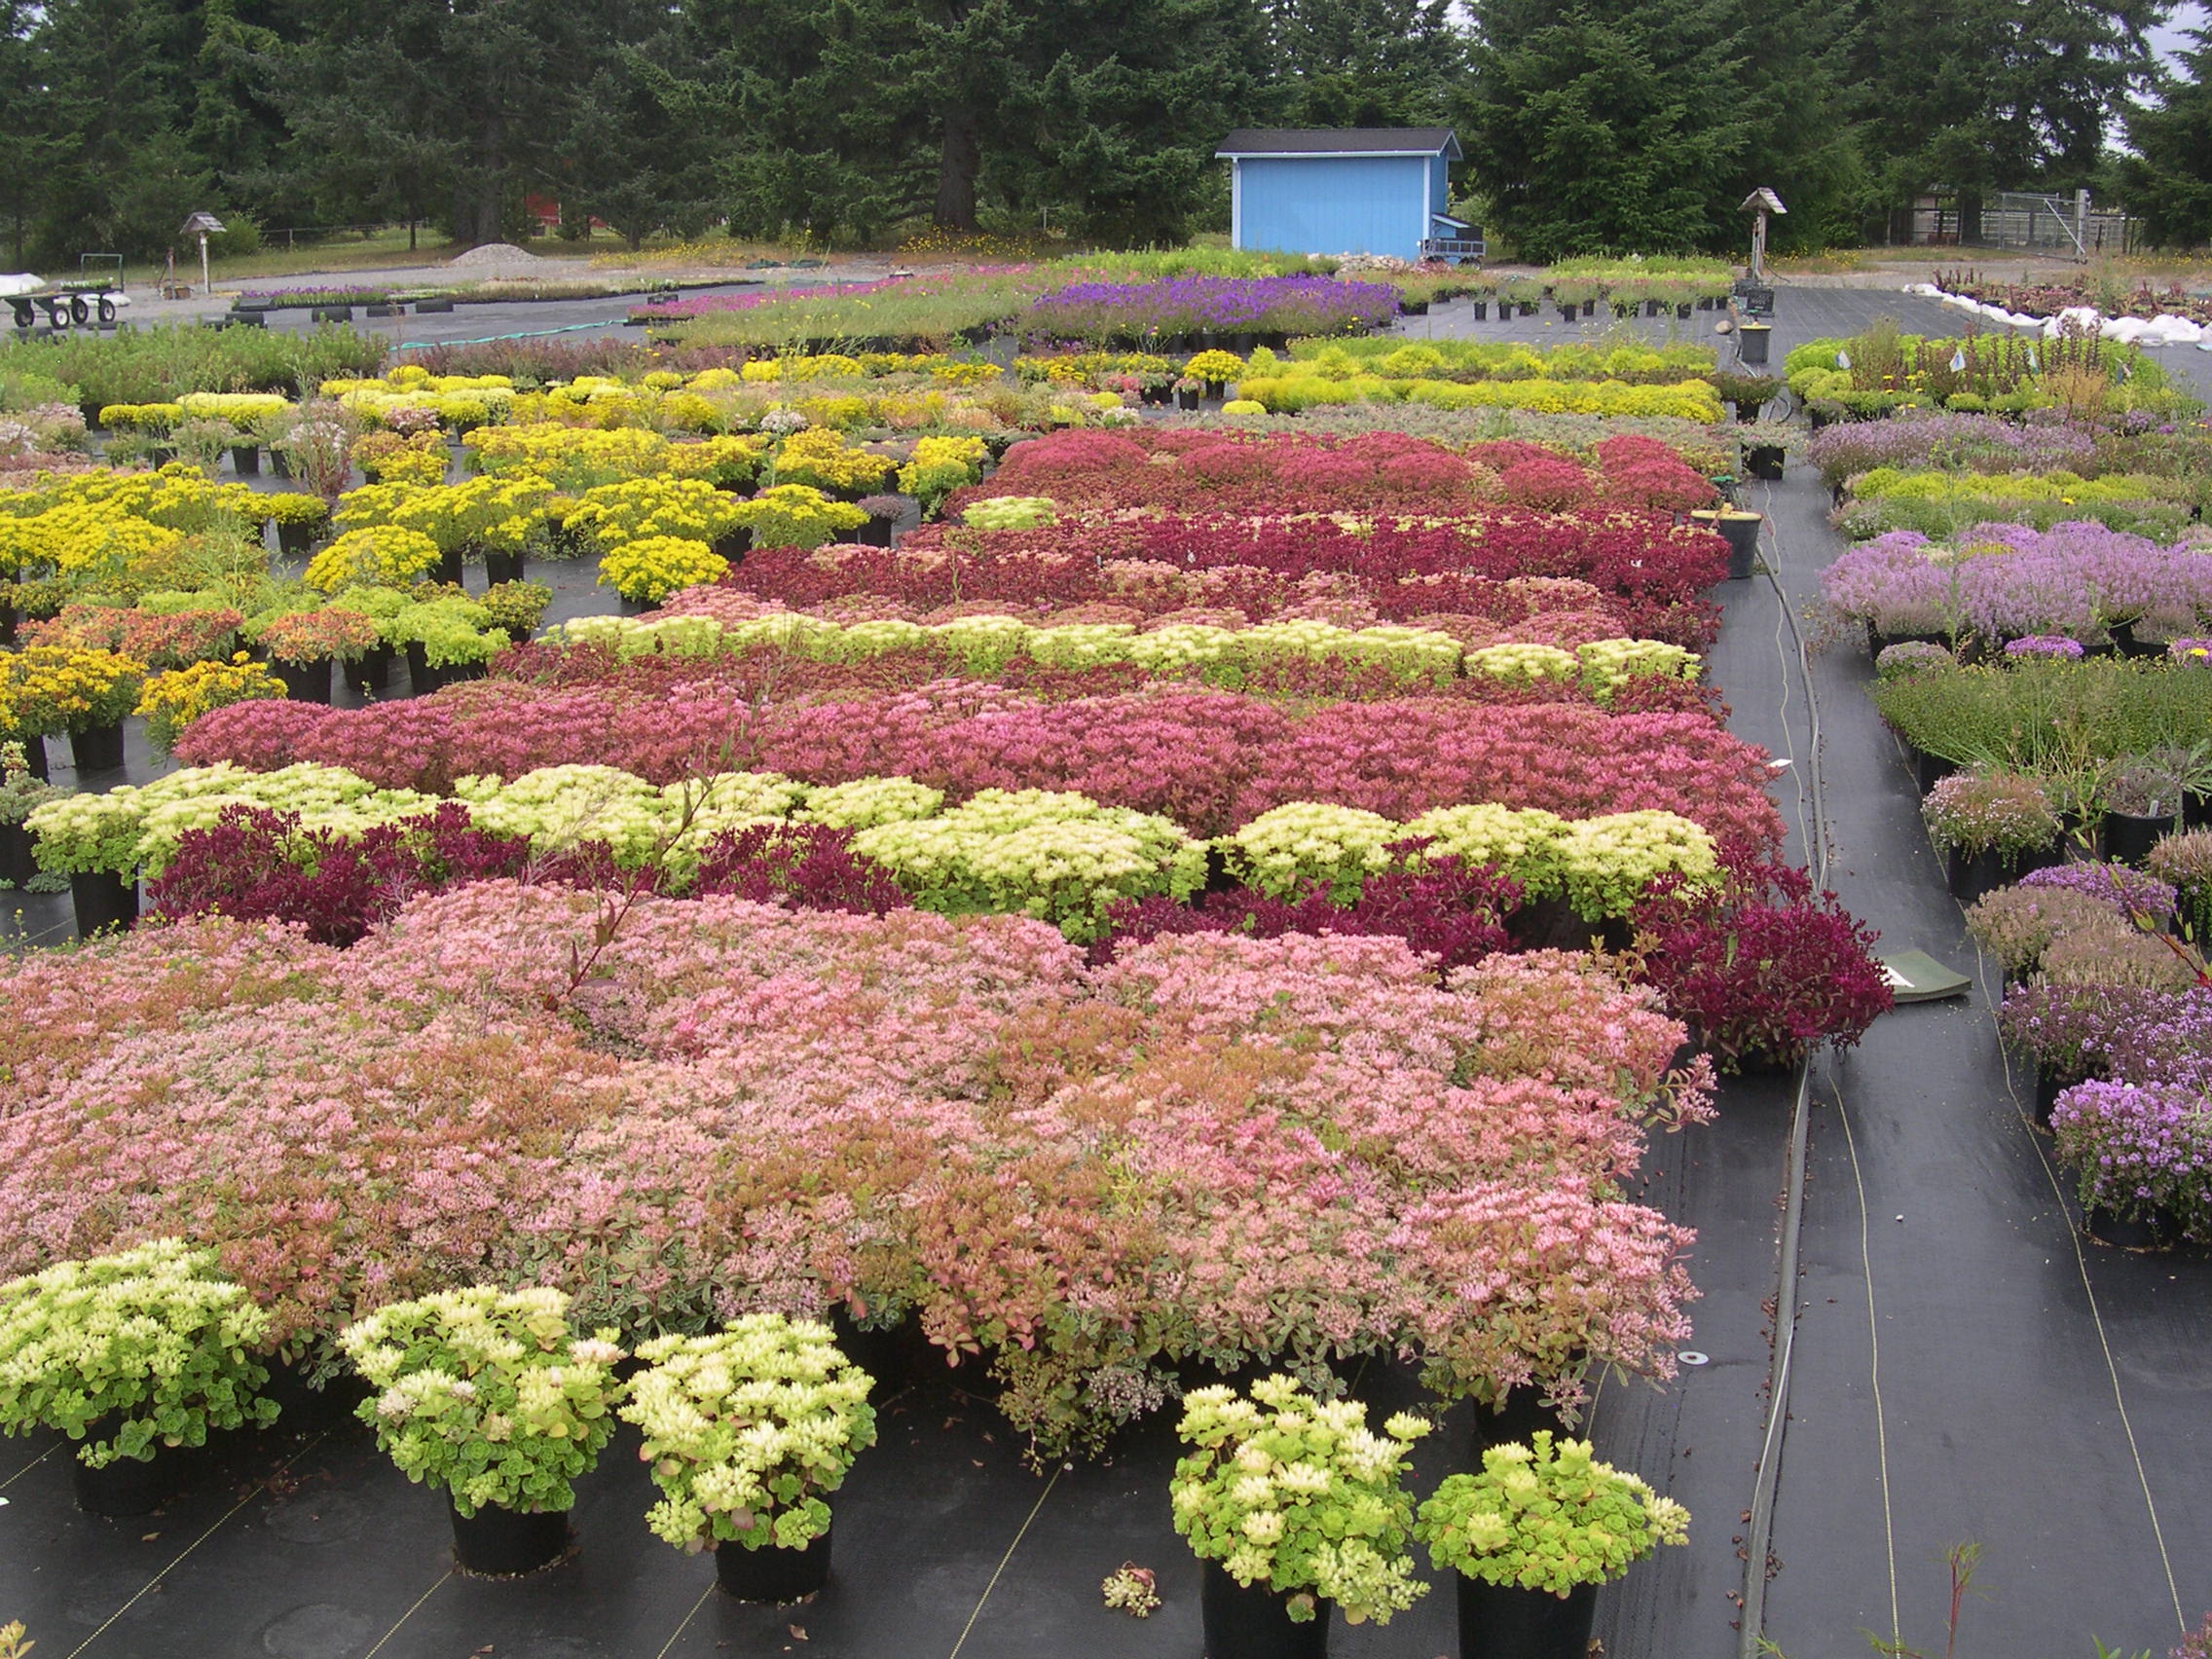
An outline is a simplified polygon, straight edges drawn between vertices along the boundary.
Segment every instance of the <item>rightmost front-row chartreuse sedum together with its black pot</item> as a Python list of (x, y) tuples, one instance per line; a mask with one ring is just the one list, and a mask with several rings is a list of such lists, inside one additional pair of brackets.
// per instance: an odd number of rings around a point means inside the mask
[(1416, 1533), (1460, 1579), (1460, 1659), (1557, 1659), (1590, 1646), (1597, 1586), (1659, 1544), (1690, 1537), (1690, 1511), (1597, 1462), (1588, 1440), (1489, 1447), (1480, 1475), (1449, 1475)]

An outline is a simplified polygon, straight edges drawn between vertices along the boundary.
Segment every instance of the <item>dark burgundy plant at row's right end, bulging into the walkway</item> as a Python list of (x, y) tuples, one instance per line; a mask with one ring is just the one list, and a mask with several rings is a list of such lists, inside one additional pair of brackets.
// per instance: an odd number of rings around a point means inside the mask
[(1630, 911), (1644, 984), (1723, 1071), (1796, 1064), (1814, 1042), (1849, 1046), (1891, 1009), (1876, 933), (1792, 865), (1725, 860), (1719, 887), (1661, 876)]

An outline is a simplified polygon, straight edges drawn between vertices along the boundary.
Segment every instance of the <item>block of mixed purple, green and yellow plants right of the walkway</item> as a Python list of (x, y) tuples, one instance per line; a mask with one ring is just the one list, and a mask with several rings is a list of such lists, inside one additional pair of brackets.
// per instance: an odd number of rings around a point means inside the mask
[(1792, 352), (1790, 385), (1851, 416), (1807, 445), (1865, 538), (1823, 597), (1876, 655), (2088, 1232), (2212, 1243), (2203, 422), (2152, 361), (2073, 330), (1878, 327)]

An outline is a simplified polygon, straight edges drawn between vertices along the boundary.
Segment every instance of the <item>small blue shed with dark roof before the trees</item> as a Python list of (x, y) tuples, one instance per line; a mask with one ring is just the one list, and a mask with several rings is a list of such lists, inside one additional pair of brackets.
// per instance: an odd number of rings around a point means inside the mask
[(1241, 128), (1230, 164), (1230, 241), (1276, 254), (1469, 259), (1473, 232), (1444, 212), (1449, 126)]

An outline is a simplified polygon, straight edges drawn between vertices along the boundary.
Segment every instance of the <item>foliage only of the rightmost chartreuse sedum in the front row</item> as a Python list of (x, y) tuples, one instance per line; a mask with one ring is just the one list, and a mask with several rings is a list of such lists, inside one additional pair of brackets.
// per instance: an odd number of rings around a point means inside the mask
[(1480, 1475), (1449, 1475), (1416, 1531), (1440, 1573), (1564, 1597), (1621, 1577), (1659, 1544), (1686, 1544), (1690, 1511), (1597, 1462), (1588, 1440), (1537, 1429), (1526, 1447), (1489, 1447)]

